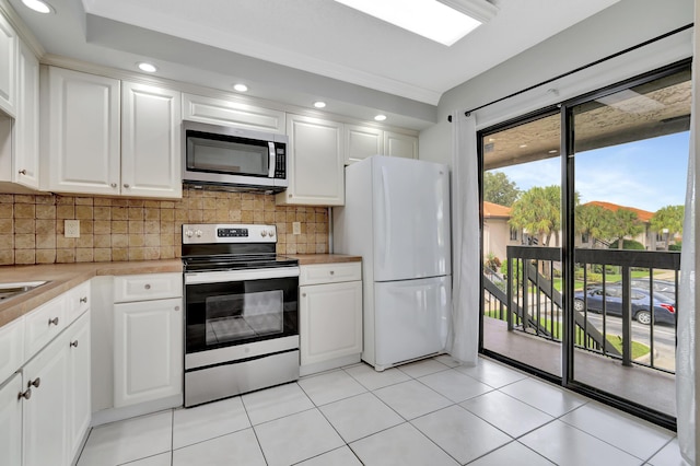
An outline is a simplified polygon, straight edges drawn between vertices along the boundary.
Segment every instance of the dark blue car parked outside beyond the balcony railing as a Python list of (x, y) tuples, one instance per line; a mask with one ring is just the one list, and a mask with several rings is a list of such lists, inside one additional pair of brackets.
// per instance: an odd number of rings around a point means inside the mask
[[(603, 312), (603, 287), (590, 287), (585, 292), (578, 291), (573, 298), (573, 308), (575, 311), (582, 312), (587, 304), (588, 311)], [(664, 322), (675, 324), (676, 303), (666, 294), (661, 292), (654, 293), (653, 307), (650, 305), (651, 296), (649, 290), (632, 288), (630, 299), (632, 301), (632, 318), (640, 324), (651, 324), (652, 308), (654, 312), (654, 323)], [(605, 287), (605, 312), (609, 315), (622, 315), (622, 287), (620, 284), (608, 284)]]

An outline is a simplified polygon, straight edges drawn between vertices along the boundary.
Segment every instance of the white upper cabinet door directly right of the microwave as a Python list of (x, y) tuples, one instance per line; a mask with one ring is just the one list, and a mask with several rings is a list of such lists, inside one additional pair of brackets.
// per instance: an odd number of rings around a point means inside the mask
[(289, 188), (278, 203), (342, 206), (345, 203), (342, 124), (288, 115)]

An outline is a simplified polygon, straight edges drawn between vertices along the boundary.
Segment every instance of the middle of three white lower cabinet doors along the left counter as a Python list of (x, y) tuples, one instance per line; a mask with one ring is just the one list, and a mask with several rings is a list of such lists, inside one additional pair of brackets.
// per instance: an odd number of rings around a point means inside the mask
[(24, 466), (68, 463), (68, 341), (58, 337), (24, 368), (25, 387), (32, 396), (23, 400)]

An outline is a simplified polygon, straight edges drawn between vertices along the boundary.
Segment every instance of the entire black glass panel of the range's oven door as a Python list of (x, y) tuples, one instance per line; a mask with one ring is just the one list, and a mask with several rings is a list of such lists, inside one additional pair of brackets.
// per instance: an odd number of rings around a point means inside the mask
[(299, 278), (185, 286), (185, 352), (299, 335)]

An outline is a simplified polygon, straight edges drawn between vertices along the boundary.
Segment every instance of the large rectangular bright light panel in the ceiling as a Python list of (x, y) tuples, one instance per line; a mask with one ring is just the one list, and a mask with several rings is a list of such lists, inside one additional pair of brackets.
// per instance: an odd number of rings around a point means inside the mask
[(431, 40), (451, 46), (495, 15), (485, 0), (336, 0)]

